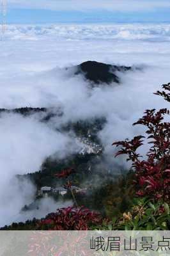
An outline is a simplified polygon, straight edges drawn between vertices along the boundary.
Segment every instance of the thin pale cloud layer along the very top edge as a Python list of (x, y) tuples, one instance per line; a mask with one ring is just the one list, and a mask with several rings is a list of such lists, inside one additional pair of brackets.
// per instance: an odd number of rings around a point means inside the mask
[(144, 11), (169, 8), (169, 0), (9, 0), (12, 8), (35, 8), (49, 10), (111, 10), (111, 11)]

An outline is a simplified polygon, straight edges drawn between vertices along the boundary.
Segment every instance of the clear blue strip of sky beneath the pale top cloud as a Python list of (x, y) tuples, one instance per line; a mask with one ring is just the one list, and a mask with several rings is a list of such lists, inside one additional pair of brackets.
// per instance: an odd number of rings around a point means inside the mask
[[(44, 0), (46, 1), (46, 0)], [(73, 1), (73, 0), (70, 0)], [(132, 0), (130, 0), (132, 2)], [(9, 1), (10, 2), (10, 1)], [(58, 8), (58, 4), (54, 6), (57, 10), (45, 8), (45, 6), (28, 6), (19, 8), (17, 4), (11, 6), (8, 2), (6, 19), (10, 24), (47, 24), (47, 23), (168, 23), (170, 22), (170, 3), (167, 8), (135, 8), (132, 6), (132, 10), (123, 8), (114, 10), (112, 8), (95, 8), (91, 6), (91, 9), (81, 9), (75, 6), (75, 10), (69, 9), (66, 6), (66, 10)], [(147, 2), (143, 0), (143, 2)], [(122, 3), (122, 1), (121, 1)], [(129, 3), (130, 4), (130, 3)], [(125, 5), (125, 4), (124, 4)], [(161, 4), (160, 4), (161, 5)], [(90, 4), (88, 4), (90, 6)], [(88, 7), (87, 6), (87, 7)], [(115, 6), (114, 6), (115, 7)], [(121, 6), (122, 7), (122, 6)], [(133, 10), (134, 8), (134, 10)]]

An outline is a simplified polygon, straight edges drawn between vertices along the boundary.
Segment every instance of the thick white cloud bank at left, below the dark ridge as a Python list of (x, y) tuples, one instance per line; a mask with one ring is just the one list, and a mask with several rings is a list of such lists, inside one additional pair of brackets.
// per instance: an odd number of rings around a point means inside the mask
[[(0, 144), (0, 227), (2, 227), (10, 224), (11, 221), (31, 218), (34, 213), (20, 214), (24, 205), (33, 202), (36, 188), (29, 180), (19, 182), (15, 175), (38, 171), (46, 157), (52, 154), (56, 157), (64, 157), (76, 146), (75, 141), (68, 135), (54, 131), (39, 122), (37, 117), (24, 118), (19, 114), (1, 115)], [(35, 211), (35, 216), (42, 217), (48, 211), (54, 211), (54, 206), (54, 203), (51, 204), (49, 201), (45, 208), (42, 202), (40, 212)]]

